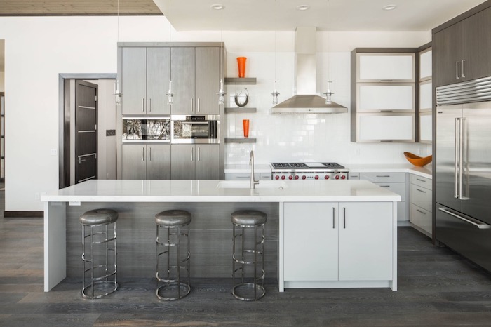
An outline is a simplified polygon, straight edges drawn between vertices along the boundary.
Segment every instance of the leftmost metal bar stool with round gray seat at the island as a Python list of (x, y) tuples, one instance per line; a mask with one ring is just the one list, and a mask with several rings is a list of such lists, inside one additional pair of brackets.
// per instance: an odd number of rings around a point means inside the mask
[[(111, 209), (87, 211), (79, 218), (82, 225), (83, 298), (102, 298), (119, 287), (116, 274), (116, 220), (118, 213)], [(112, 229), (109, 229), (110, 224), (113, 224)], [(86, 227), (90, 227), (89, 234), (86, 234)], [(86, 242), (86, 239), (90, 241)], [(90, 243), (90, 254), (86, 252), (86, 243)], [(105, 246), (95, 248), (98, 245)], [(87, 277), (88, 274), (90, 276)], [(87, 278), (90, 281), (88, 285)]]

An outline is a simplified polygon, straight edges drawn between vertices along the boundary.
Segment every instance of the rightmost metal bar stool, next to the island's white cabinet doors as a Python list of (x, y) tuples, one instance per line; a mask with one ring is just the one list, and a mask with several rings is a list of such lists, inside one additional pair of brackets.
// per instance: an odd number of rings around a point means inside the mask
[[(238, 300), (255, 301), (259, 300), (266, 294), (264, 290), (264, 224), (266, 223), (266, 213), (255, 210), (243, 210), (232, 213), (233, 224), (233, 253), (232, 253), (232, 294)], [(240, 232), (236, 234), (236, 227)], [(260, 237), (257, 238), (260, 229)], [(247, 239), (247, 234), (250, 239)], [(236, 242), (240, 241), (240, 251), (236, 251)], [(240, 257), (238, 258), (238, 255)], [(258, 260), (258, 257), (260, 259)], [(260, 262), (259, 273), (257, 264)], [(236, 265), (238, 267), (236, 268)], [(246, 276), (250, 273), (250, 268), (254, 271), (252, 276)], [(245, 270), (248, 272), (245, 272)], [(236, 272), (241, 271), (241, 283), (236, 284)]]

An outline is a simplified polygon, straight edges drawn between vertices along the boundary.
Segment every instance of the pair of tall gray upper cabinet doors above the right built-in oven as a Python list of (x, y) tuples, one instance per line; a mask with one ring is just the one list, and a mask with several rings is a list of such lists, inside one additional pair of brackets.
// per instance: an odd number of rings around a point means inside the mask
[(173, 114), (219, 114), (220, 48), (172, 48)]

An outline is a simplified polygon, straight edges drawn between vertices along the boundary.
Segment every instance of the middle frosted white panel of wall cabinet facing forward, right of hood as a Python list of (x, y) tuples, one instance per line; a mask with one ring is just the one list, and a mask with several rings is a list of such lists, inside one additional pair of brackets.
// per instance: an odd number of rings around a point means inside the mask
[(415, 84), (358, 83), (357, 112), (414, 112)]

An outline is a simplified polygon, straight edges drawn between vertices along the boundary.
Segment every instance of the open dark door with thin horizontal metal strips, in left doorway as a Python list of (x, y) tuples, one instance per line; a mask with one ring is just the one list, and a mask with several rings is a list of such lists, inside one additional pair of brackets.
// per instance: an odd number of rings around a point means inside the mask
[(76, 81), (75, 183), (97, 179), (97, 84)]

